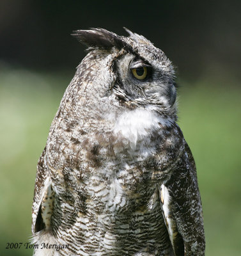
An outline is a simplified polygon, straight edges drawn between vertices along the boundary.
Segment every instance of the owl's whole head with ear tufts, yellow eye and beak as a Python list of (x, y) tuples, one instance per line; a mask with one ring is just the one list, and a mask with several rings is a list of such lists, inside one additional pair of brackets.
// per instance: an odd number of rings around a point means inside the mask
[(90, 87), (101, 87), (91, 89), (95, 95), (114, 95), (125, 108), (145, 108), (176, 118), (175, 72), (171, 61), (144, 36), (125, 30), (128, 37), (100, 28), (75, 31), (73, 35), (89, 51), (79, 65), (79, 75), (87, 80), (91, 76)]

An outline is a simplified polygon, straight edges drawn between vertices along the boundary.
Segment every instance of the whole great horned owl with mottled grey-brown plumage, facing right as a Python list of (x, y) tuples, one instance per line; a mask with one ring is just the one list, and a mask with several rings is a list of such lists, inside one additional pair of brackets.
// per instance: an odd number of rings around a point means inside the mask
[[(205, 255), (173, 65), (144, 38), (75, 31), (88, 54), (38, 161), (35, 255)], [(59, 246), (59, 247), (58, 247)]]

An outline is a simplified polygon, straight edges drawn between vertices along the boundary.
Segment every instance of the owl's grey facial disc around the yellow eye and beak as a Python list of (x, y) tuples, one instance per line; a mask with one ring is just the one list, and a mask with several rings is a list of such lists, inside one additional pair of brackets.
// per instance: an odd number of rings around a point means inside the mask
[[(127, 104), (171, 108), (176, 88), (171, 76), (140, 57), (127, 54), (118, 60), (119, 86)], [(123, 95), (123, 94), (122, 94)]]

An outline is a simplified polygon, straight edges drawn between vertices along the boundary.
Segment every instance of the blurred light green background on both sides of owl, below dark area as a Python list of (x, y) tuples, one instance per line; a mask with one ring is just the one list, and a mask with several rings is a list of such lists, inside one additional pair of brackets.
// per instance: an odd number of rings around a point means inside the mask
[[(36, 163), (71, 76), (27, 70), (0, 72), (0, 252), (6, 243), (27, 243)], [(181, 81), (179, 121), (198, 168), (206, 255), (240, 255), (240, 88), (235, 81), (203, 77)]]

